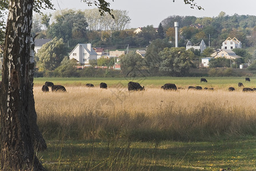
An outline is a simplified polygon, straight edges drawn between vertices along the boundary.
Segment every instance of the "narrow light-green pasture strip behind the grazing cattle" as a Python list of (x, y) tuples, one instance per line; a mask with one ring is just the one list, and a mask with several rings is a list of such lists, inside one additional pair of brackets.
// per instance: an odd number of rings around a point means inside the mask
[(251, 82), (245, 82), (244, 77), (214, 77), (206, 78), (207, 83), (200, 83), (201, 78), (185, 77), (147, 77), (147, 78), (35, 78), (35, 86), (41, 86), (46, 81), (54, 84), (61, 84), (63, 86), (85, 86), (86, 83), (98, 86), (99, 83), (105, 82), (108, 87), (111, 86), (127, 86), (130, 81), (138, 82), (145, 88), (161, 87), (165, 83), (174, 83), (177, 87), (187, 88), (188, 86), (201, 86), (208, 88), (238, 88), (238, 83), (241, 82), (245, 87), (256, 87), (256, 78), (250, 78)]

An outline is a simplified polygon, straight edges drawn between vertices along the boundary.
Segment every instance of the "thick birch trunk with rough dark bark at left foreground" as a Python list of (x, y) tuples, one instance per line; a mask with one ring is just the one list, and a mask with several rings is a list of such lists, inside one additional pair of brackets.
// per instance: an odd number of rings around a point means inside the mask
[(34, 150), (46, 149), (46, 144), (34, 108), (32, 11), (33, 0), (10, 0), (2, 71), (1, 170), (45, 170)]

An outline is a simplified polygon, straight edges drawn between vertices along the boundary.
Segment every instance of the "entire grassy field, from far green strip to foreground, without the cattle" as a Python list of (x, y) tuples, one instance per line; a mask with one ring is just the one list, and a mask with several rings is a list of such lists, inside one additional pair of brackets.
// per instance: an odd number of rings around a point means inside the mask
[[(256, 87), (254, 78), (206, 79), (134, 80), (142, 92), (127, 91), (130, 80), (118, 78), (35, 79), (38, 125), (49, 147), (38, 157), (49, 170), (256, 169), (256, 93), (237, 86)], [(67, 93), (43, 93), (46, 80)], [(164, 83), (215, 90), (164, 91)], [(231, 86), (237, 91), (227, 91)]]

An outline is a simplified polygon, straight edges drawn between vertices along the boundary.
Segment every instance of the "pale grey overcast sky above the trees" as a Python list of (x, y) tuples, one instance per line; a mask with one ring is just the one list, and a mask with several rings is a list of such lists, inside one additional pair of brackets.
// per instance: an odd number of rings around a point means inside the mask
[[(52, 0), (55, 9), (89, 9), (86, 3), (80, 0)], [(256, 15), (255, 0), (195, 0), (205, 10), (190, 9), (183, 0), (114, 0), (110, 8), (114, 10), (129, 11), (131, 18), (129, 28), (153, 25), (158, 27), (159, 23), (170, 15), (193, 15), (195, 17), (217, 17), (221, 11), (227, 15), (235, 13)], [(47, 11), (53, 13), (54, 11)]]

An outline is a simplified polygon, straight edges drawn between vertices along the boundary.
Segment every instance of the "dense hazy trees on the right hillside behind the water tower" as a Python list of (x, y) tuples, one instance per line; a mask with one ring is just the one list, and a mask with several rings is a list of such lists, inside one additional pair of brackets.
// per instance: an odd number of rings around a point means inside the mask
[[(256, 35), (256, 16), (254, 15), (226, 15), (225, 12), (219, 13), (217, 17), (181, 17), (173, 15), (163, 19), (161, 22), (165, 30), (174, 27), (174, 22), (178, 21), (181, 32), (181, 44), (190, 40), (193, 43), (198, 43), (202, 39), (210, 46), (220, 48), (221, 43), (228, 37), (234, 36), (242, 42), (243, 47), (255, 46)], [(170, 32), (170, 30), (169, 30)], [(168, 32), (168, 33), (169, 33)], [(169, 36), (173, 40), (173, 34)], [(184, 41), (185, 40), (185, 41)], [(182, 42), (183, 41), (183, 42)], [(185, 44), (183, 44), (185, 46)]]

